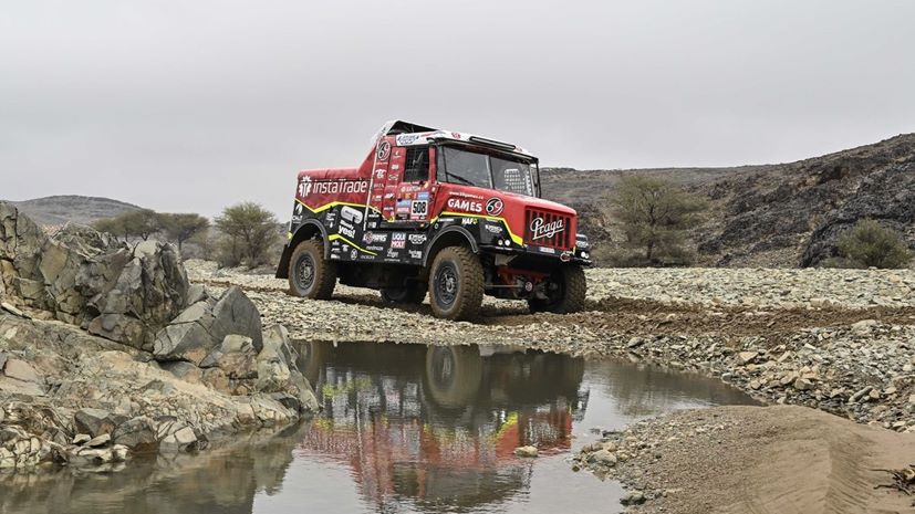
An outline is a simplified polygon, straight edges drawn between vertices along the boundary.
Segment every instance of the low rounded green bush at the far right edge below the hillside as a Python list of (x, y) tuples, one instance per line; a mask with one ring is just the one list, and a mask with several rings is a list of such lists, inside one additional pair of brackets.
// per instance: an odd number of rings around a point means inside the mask
[(874, 220), (859, 220), (839, 237), (839, 258), (828, 259), (831, 268), (905, 268), (912, 252), (902, 235)]

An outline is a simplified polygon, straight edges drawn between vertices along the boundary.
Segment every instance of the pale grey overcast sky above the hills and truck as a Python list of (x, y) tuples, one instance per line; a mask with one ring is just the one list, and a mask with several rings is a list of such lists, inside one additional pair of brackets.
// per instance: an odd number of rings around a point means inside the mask
[(287, 219), (387, 119), (544, 166), (797, 160), (915, 132), (915, 2), (93, 1), (0, 9), (0, 198)]

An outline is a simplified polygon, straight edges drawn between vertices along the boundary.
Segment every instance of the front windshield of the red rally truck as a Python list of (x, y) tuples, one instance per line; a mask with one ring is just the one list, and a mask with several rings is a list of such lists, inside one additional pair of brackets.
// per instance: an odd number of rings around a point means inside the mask
[(534, 196), (531, 162), (444, 147), (445, 172), (439, 180)]

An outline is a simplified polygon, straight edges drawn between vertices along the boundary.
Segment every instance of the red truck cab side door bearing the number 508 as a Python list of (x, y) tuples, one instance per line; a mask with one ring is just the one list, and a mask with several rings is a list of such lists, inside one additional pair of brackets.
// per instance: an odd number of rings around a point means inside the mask
[(388, 222), (428, 221), (434, 192), (433, 153), (428, 146), (394, 149), (382, 203)]

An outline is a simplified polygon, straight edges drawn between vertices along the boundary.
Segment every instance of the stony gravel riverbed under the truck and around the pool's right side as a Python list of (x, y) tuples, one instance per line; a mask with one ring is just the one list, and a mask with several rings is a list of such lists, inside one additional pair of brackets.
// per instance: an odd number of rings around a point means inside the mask
[[(377, 293), (367, 290), (339, 286), (333, 301), (313, 302), (284, 294), (284, 281), (270, 275), (216, 270), (214, 264), (202, 261), (189, 262), (188, 270), (193, 280), (215, 290), (242, 287), (266, 319), (285, 324), (293, 337), (518, 344), (575, 356), (622, 357), (697, 370), (718, 377), (768, 405), (813, 407), (874, 426), (867, 428), (866, 437), (856, 439), (855, 450), (850, 450), (852, 457), (828, 453), (825, 460), (818, 461), (823, 470), (831, 465), (832, 459), (848, 463), (861, 458), (863, 462), (870, 447), (861, 441), (878, 445), (875, 451), (882, 452), (883, 458), (867, 459), (886, 466), (906, 464), (902, 461), (911, 455), (898, 452), (911, 447), (913, 436), (893, 434), (893, 431), (915, 431), (913, 270), (595, 269), (588, 272), (588, 312), (566, 316), (530, 315), (521, 302), (487, 298), (484, 315), (476, 323), (435, 319), (429, 315), (428, 305), (388, 305)], [(715, 476), (721, 486), (728, 485), (726, 475), (746, 481), (773, 480), (772, 476), (755, 478), (750, 473), (755, 464), (749, 461), (744, 462), (741, 472), (741, 454), (728, 450), (730, 444), (746, 450), (752, 444), (747, 440), (762, 437), (766, 427), (784, 421), (778, 437), (767, 439), (767, 444), (772, 445), (773, 452), (778, 450), (771, 454), (777, 465), (799, 470), (805, 463), (798, 461), (797, 455), (792, 460), (792, 451), (803, 455), (810, 445), (823, 444), (823, 441), (829, 441), (832, 444), (829, 448), (838, 451), (833, 441), (843, 441), (839, 436), (830, 439), (825, 432), (819, 436), (817, 427), (829, 427), (835, 434), (857, 433), (860, 429), (860, 424), (811, 409), (749, 408), (721, 415), (715, 410), (649, 420), (624, 434), (607, 434), (605, 443), (613, 451), (604, 451), (601, 458), (594, 459), (589, 453), (606, 449), (586, 449), (575, 466), (588, 466), (623, 481), (638, 491), (625, 503), (647, 512), (706, 512), (713, 507), (721, 512), (757, 512), (753, 508), (760, 507), (770, 508), (766, 512), (861, 511), (854, 502), (821, 502), (824, 494), (830, 497), (857, 494), (873, 500), (874, 505), (884, 505), (883, 496), (875, 500), (870, 493), (878, 484), (877, 474), (860, 478), (855, 470), (849, 471), (852, 474), (849, 480), (856, 480), (856, 485), (848, 491), (836, 491), (841, 484), (831, 482), (817, 489), (802, 472), (794, 473), (796, 481), (812, 487), (804, 491), (814, 503), (799, 503), (809, 507), (808, 511), (783, 510), (787, 507), (783, 502), (779, 503), (776, 490), (768, 491), (768, 500), (757, 504), (748, 501), (729, 505), (720, 497), (706, 503), (696, 500), (697, 491), (708, 489), (705, 485), (708, 476)], [(784, 412), (791, 416), (786, 417)], [(680, 422), (676, 416), (693, 421)], [(710, 418), (706, 416), (715, 419), (720, 416), (727, 421), (708, 422)], [(887, 436), (874, 436), (883, 432)], [(717, 434), (717, 439), (690, 447), (696, 438), (708, 438), (707, 433)], [(791, 434), (796, 433), (804, 436), (793, 438)], [(780, 437), (784, 444), (793, 444), (791, 451), (781, 450)], [(680, 445), (672, 447), (675, 441), (680, 441)], [(657, 451), (637, 451), (646, 448)], [(623, 449), (621, 453), (618, 449)], [(677, 463), (675, 466), (657, 464), (665, 454), (682, 455), (682, 459), (665, 461)], [(893, 459), (894, 454), (898, 458)], [(615, 462), (625, 460), (632, 462), (615, 466)], [(730, 465), (716, 468), (714, 464), (719, 461)], [(698, 466), (711, 471), (698, 476), (694, 472), (697, 462), (713, 463)], [(777, 483), (791, 489), (783, 482)], [(696, 487), (697, 483), (704, 485)], [(690, 494), (682, 493), (686, 490)], [(668, 492), (680, 492), (688, 501), (667, 501)], [(893, 499), (887, 502), (887, 505), (898, 503)], [(773, 505), (778, 507), (771, 510)]]

